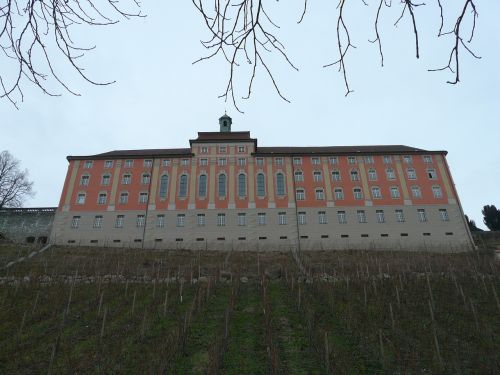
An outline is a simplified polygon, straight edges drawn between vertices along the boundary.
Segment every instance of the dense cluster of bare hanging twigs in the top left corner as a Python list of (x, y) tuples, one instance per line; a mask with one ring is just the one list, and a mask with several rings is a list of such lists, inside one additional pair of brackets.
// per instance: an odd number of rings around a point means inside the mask
[[(124, 10), (130, 5), (135, 12)], [(79, 95), (61, 78), (56, 69), (60, 62), (94, 85), (112, 83), (94, 81), (84, 72), (78, 59), (95, 46), (79, 45), (73, 31), (80, 25), (106, 26), (120, 17), (141, 16), (137, 8), (138, 0), (0, 0), (0, 99), (17, 107), (24, 80), (47, 95), (59, 96), (61, 88)]]

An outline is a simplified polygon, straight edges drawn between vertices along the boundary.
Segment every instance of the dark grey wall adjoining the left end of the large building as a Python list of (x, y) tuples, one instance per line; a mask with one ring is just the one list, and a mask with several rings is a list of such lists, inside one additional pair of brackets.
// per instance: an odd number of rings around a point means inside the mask
[(0, 234), (19, 243), (45, 243), (50, 237), (56, 208), (4, 208)]

